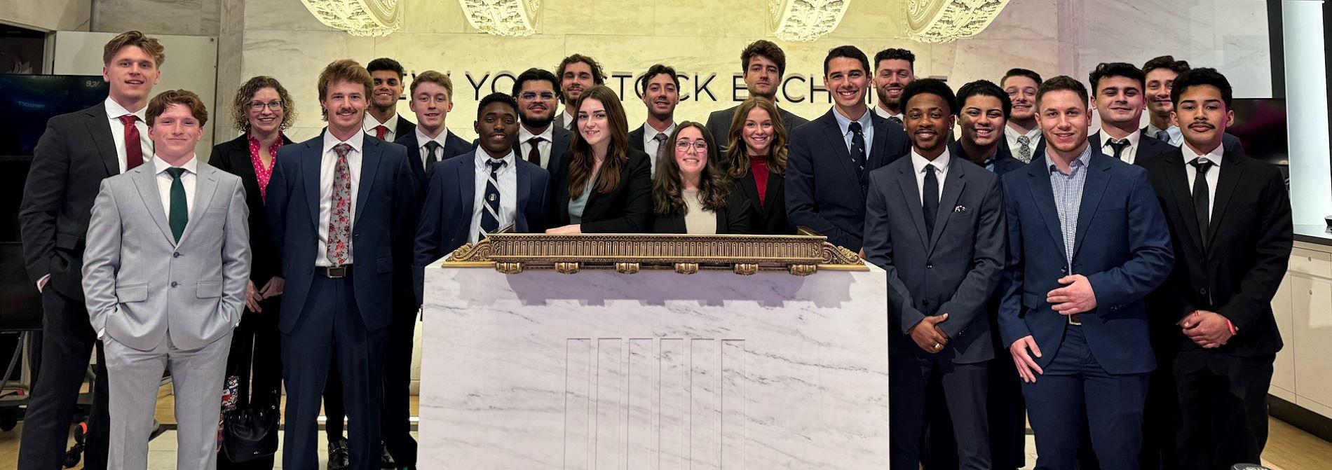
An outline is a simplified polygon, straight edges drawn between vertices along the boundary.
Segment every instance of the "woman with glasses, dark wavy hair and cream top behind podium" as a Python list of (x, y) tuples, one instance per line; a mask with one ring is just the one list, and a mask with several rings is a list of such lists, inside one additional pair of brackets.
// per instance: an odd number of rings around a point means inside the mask
[(702, 122), (675, 126), (671, 152), (657, 162), (653, 180), (653, 232), (693, 234), (750, 233), (749, 201), (718, 169), (717, 141)]

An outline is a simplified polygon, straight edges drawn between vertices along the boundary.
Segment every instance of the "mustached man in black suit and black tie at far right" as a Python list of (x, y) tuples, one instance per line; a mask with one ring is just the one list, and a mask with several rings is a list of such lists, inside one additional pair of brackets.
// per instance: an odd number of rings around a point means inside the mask
[(1281, 334), (1272, 297), (1289, 262), (1291, 200), (1276, 166), (1225, 148), (1231, 85), (1215, 69), (1171, 91), (1184, 145), (1144, 164), (1166, 212), (1175, 269), (1152, 298), (1158, 357), (1171, 369), (1177, 461), (1171, 469), (1259, 462)]

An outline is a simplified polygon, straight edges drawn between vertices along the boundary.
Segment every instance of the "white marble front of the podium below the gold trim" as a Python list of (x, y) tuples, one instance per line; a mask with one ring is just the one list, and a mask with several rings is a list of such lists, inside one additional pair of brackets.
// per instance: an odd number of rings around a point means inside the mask
[(886, 469), (879, 269), (429, 268), (421, 469)]

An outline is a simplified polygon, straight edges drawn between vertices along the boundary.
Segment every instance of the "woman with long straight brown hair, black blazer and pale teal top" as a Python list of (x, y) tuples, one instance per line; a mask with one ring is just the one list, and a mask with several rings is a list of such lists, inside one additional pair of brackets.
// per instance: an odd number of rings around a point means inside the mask
[(589, 88), (574, 104), (569, 152), (553, 177), (546, 233), (647, 233), (651, 229), (651, 162), (629, 148), (629, 122), (619, 96)]

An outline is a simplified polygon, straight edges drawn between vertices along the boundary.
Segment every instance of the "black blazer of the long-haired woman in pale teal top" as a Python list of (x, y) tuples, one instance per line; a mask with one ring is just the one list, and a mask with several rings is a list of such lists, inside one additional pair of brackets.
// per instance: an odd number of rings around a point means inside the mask
[[(567, 162), (573, 152), (559, 157)], [(653, 178), (647, 153), (629, 150), (629, 162), (619, 170), (619, 185), (609, 194), (586, 188), (587, 205), (583, 208), (583, 233), (649, 233), (653, 221)], [(551, 180), (550, 226), (569, 225), (569, 165), (559, 165)]]

